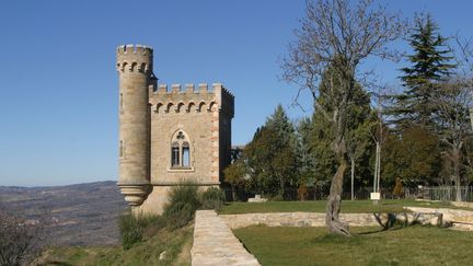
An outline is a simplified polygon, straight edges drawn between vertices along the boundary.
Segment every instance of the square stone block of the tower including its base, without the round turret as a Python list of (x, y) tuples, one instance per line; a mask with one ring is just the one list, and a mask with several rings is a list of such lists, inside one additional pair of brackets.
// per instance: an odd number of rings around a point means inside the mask
[[(212, 91), (207, 84), (197, 90), (193, 84), (185, 90), (173, 84), (171, 91), (160, 85), (150, 95), (150, 106), (152, 190), (138, 211), (161, 213), (172, 186), (191, 182), (205, 189), (222, 182), (230, 160), (233, 95), (221, 84), (214, 84)], [(180, 130), (191, 148), (189, 167), (184, 169), (171, 165), (172, 138)]]

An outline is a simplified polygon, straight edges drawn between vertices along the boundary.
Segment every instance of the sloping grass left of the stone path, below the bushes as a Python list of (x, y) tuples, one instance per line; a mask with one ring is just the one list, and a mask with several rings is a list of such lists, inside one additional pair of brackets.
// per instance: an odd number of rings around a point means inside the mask
[[(145, 242), (125, 251), (111, 247), (50, 247), (43, 252), (39, 265), (191, 265), (193, 228), (160, 230)], [(160, 254), (166, 252), (164, 259)]]

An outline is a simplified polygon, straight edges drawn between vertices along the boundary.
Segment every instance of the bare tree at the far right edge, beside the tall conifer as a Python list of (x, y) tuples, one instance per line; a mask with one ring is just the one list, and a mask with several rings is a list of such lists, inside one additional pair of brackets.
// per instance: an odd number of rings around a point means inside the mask
[(455, 200), (461, 201), (463, 160), (471, 166), (468, 138), (473, 132), (473, 38), (457, 33), (450, 49), (454, 51), (455, 74), (439, 82), (434, 93), (432, 105), (438, 109), (434, 116), (439, 123), (439, 137), (448, 149), (443, 157), (449, 167), (447, 174), (455, 185)]

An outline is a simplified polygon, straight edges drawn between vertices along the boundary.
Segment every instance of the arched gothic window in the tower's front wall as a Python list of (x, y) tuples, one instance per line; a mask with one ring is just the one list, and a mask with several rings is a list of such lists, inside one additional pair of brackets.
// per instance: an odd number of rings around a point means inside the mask
[(177, 130), (171, 143), (171, 167), (191, 167), (191, 144), (187, 134)]

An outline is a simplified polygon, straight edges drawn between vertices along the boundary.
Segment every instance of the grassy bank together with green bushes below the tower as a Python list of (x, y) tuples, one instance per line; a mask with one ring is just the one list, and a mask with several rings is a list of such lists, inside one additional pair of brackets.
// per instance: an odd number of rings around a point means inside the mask
[[(118, 225), (122, 246), (51, 247), (36, 263), (39, 265), (191, 265), (194, 219), (197, 208), (222, 205), (219, 188), (198, 193), (197, 186), (183, 184), (170, 193), (162, 216), (123, 213)], [(162, 254), (163, 257), (160, 258)]]

